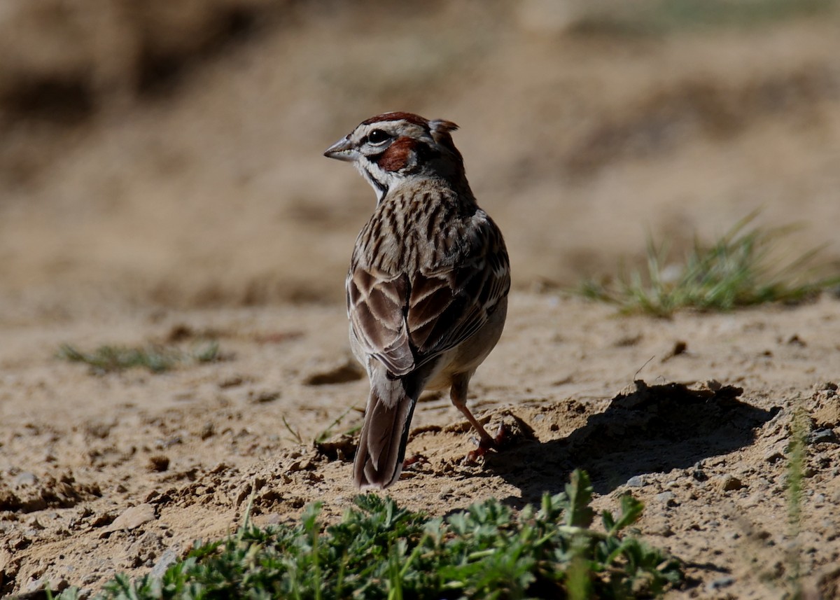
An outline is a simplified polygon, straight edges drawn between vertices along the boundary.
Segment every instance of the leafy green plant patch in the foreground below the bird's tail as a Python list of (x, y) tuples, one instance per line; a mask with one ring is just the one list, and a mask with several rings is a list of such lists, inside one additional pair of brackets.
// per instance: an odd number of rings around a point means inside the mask
[[(543, 496), (518, 515), (495, 499), (446, 518), (356, 497), (338, 524), (323, 526), (320, 503), (296, 526), (259, 529), (195, 545), (160, 579), (117, 576), (102, 598), (518, 598), (644, 597), (682, 581), (680, 564), (622, 530), (642, 504), (622, 498), (591, 529), (588, 476)], [(76, 590), (68, 590), (65, 598)]]

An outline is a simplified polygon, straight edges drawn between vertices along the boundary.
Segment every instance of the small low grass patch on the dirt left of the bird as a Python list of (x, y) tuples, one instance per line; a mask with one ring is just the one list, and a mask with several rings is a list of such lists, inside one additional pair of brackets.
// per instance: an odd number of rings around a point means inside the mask
[(64, 344), (57, 356), (65, 361), (86, 363), (97, 373), (124, 371), (138, 366), (160, 373), (183, 364), (218, 361), (219, 352), (217, 341), (197, 345), (190, 351), (162, 345), (134, 348), (103, 345), (92, 352), (83, 352)]

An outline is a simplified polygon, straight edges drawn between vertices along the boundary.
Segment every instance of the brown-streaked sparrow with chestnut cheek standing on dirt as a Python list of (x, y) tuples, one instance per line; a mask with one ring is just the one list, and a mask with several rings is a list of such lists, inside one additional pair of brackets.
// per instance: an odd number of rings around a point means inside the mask
[(510, 261), (467, 182), (455, 129), (444, 119), (382, 113), (324, 152), (353, 162), (376, 193), (345, 282), (350, 347), (370, 379), (353, 469), (363, 489), (399, 479), (425, 389), (449, 388), (480, 452), (496, 447), (466, 400), (505, 325)]

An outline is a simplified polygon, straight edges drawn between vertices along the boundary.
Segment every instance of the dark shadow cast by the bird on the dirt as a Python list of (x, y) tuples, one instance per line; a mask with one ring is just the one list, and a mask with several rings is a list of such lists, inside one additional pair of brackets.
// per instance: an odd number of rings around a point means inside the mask
[(595, 492), (606, 494), (633, 476), (689, 468), (751, 444), (756, 429), (780, 408), (754, 407), (738, 399), (742, 392), (638, 381), (633, 392), (612, 398), (604, 412), (567, 437), (522, 439), (487, 455), (486, 470), (522, 491), (517, 504), (563, 491), (576, 468), (589, 473)]

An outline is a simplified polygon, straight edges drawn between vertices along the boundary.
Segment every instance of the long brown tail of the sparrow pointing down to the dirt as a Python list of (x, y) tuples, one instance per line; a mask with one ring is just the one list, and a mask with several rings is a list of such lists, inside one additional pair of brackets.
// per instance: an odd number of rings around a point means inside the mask
[(384, 489), (396, 482), (402, 472), (415, 402), (402, 382), (388, 383), (370, 390), (353, 464), (356, 487)]

